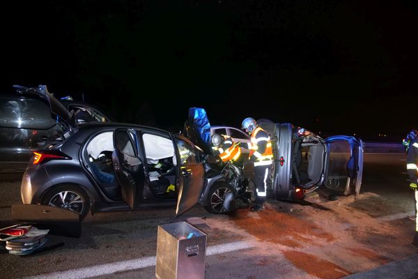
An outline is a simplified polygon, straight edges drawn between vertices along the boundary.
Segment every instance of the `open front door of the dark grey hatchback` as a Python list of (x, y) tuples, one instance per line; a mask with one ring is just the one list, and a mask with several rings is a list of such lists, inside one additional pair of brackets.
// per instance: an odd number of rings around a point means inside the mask
[(180, 171), (176, 207), (176, 216), (179, 216), (199, 201), (204, 186), (205, 171), (196, 146), (181, 136), (176, 136), (175, 141)]

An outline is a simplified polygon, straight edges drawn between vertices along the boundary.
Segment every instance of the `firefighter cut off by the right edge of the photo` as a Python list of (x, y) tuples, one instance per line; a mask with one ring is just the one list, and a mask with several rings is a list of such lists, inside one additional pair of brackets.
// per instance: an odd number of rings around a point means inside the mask
[(415, 194), (415, 236), (412, 244), (418, 247), (418, 131), (411, 130), (403, 140), (403, 145), (406, 147), (406, 170), (410, 178), (410, 188)]

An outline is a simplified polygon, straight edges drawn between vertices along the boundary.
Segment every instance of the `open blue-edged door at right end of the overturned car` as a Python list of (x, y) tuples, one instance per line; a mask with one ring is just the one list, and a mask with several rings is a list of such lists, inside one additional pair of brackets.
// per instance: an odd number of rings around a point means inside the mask
[(363, 142), (336, 135), (325, 139), (324, 186), (339, 195), (358, 195), (362, 186)]

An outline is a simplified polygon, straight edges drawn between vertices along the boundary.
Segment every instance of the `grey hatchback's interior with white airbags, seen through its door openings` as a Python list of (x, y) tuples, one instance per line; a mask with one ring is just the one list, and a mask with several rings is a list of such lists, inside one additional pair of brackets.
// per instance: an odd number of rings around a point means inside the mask
[[(96, 135), (86, 146), (88, 162), (104, 193), (121, 199), (121, 187), (115, 178), (112, 164), (113, 131)], [(156, 197), (172, 197), (177, 190), (176, 153), (173, 142), (159, 135), (142, 135), (146, 153), (148, 186)]]

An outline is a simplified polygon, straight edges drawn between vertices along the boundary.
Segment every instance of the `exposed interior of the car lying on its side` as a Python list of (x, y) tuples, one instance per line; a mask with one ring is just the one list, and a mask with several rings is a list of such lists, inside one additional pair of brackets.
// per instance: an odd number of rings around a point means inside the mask
[(323, 172), (325, 146), (315, 137), (295, 140), (293, 161), (293, 184), (310, 188), (320, 181)]

